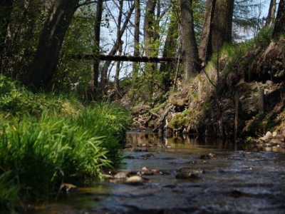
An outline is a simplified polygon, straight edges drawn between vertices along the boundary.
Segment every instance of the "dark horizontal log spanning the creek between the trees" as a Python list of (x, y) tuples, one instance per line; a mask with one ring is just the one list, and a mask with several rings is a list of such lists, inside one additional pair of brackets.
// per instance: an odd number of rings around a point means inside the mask
[[(73, 58), (95, 59), (95, 54), (73, 55)], [(135, 61), (135, 62), (150, 62), (150, 63), (170, 63), (178, 60), (176, 57), (148, 57), (148, 56), (110, 56), (99, 55), (99, 60), (102, 61)]]

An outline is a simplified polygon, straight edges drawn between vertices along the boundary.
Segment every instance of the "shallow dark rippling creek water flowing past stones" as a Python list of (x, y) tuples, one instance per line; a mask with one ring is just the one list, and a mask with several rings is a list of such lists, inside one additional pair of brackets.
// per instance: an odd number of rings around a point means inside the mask
[[(106, 180), (78, 188), (41, 205), (35, 213), (285, 213), (284, 151), (248, 152), (229, 142), (135, 131), (128, 132), (127, 143), (152, 147), (124, 151), (128, 158), (120, 171), (147, 167), (163, 173), (142, 175), (149, 182), (140, 185)], [(209, 153), (217, 159), (200, 159)], [(195, 180), (177, 179), (180, 168), (204, 173)]]

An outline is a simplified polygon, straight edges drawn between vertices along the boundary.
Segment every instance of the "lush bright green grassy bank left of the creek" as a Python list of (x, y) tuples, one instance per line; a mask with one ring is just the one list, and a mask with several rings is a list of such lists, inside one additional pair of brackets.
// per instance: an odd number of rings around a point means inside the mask
[(47, 198), (61, 183), (101, 178), (120, 163), (129, 113), (110, 103), (33, 94), (0, 76), (0, 208)]

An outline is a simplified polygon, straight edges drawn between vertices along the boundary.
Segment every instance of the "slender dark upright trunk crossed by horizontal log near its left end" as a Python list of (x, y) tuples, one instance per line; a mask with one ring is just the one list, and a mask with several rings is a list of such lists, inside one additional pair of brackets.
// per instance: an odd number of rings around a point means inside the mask
[[(98, 0), (97, 7), (96, 7), (96, 18), (95, 18), (95, 25), (94, 25), (94, 54), (99, 55), (100, 53), (100, 26), (102, 21), (102, 13), (103, 13), (103, 0)], [(94, 88), (95, 91), (98, 91), (99, 84), (98, 84), (98, 78), (99, 78), (99, 64), (100, 61), (95, 59), (93, 63), (93, 76), (94, 76)]]

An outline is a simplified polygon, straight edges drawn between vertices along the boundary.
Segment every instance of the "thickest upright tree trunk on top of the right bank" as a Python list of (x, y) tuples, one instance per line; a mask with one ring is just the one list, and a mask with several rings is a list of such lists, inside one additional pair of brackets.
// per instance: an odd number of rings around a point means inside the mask
[(216, 0), (212, 21), (212, 49), (219, 51), (226, 43), (232, 42), (232, 15), (234, 0)]

